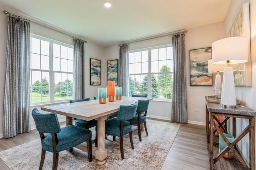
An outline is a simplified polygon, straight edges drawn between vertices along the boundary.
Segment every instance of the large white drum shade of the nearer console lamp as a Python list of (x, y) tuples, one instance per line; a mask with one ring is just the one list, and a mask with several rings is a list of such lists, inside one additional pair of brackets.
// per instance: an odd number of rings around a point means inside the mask
[(212, 43), (212, 64), (246, 63), (248, 61), (248, 37), (229, 37)]

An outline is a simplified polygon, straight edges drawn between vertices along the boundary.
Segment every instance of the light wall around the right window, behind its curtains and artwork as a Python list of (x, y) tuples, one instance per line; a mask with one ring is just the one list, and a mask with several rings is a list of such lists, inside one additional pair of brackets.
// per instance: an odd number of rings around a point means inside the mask
[[(203, 47), (211, 47), (212, 43), (224, 38), (224, 22), (204, 25), (187, 29), (185, 36), (186, 47), (186, 77), (187, 77), (187, 96), (188, 96), (188, 122), (205, 125), (205, 100), (204, 96), (213, 95), (214, 86), (190, 86), (190, 58), (189, 50)], [(158, 37), (136, 43), (130, 43), (128, 50), (142, 49), (166, 45), (171, 43), (171, 36)], [(108, 59), (118, 59), (118, 45), (111, 45), (104, 48), (105, 57)], [(215, 74), (213, 74), (213, 82)], [(148, 116), (170, 120), (171, 102), (152, 101), (148, 108)], [(161, 108), (161, 109), (159, 109)], [(194, 112), (194, 108), (199, 108), (199, 112)]]

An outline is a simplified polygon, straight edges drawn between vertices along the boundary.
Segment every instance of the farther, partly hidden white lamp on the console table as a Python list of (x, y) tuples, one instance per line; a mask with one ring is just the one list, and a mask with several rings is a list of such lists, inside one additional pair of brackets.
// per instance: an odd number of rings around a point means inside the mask
[(208, 60), (208, 72), (217, 72), (215, 76), (215, 84), (214, 84), (214, 96), (221, 96), (222, 84), (221, 77), (219, 72), (223, 72), (226, 65), (216, 65), (212, 64), (212, 60)]

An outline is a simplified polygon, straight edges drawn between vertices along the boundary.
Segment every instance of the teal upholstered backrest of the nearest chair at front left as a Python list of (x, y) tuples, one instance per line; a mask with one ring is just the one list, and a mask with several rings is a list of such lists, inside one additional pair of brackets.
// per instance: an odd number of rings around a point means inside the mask
[(56, 113), (40, 113), (38, 109), (32, 110), (36, 129), (40, 133), (59, 133), (60, 125)]

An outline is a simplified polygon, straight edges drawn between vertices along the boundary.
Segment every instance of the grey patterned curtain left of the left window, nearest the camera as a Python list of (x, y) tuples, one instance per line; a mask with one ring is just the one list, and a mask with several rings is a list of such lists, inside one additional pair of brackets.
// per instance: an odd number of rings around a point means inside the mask
[(8, 16), (4, 139), (30, 131), (30, 22)]

